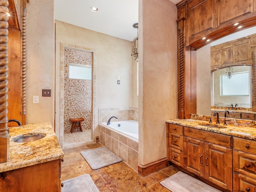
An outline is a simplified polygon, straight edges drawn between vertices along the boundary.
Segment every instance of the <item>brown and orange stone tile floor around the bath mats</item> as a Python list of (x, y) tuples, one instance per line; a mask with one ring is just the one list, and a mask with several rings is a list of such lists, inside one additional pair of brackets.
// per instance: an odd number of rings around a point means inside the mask
[(179, 169), (169, 166), (146, 177), (138, 175), (123, 161), (98, 170), (92, 170), (80, 154), (83, 150), (102, 146), (100, 143), (64, 149), (61, 179), (67, 180), (90, 174), (100, 192), (170, 192), (160, 181), (172, 176)]

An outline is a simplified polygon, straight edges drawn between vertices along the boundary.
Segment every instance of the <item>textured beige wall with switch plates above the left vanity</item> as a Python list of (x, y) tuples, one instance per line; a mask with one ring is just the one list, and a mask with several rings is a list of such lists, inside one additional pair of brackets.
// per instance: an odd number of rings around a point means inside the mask
[[(27, 4), (26, 123), (54, 125), (54, 0), (33, 0)], [(42, 97), (51, 89), (51, 97)], [(33, 104), (33, 96), (39, 103)]]

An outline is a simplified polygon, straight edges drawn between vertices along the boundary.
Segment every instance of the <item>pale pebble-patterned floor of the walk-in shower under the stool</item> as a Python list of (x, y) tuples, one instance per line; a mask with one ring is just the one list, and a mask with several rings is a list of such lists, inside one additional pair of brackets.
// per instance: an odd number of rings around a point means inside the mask
[(83, 129), (83, 132), (81, 132), (80, 129), (74, 129), (73, 133), (64, 132), (63, 149), (84, 146), (92, 143), (91, 129)]

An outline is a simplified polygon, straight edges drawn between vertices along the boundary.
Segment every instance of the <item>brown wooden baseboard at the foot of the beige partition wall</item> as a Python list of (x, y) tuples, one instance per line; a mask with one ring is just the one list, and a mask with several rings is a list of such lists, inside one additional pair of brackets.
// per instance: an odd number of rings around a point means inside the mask
[(144, 177), (168, 166), (170, 166), (170, 162), (167, 157), (146, 165), (138, 164), (138, 174)]

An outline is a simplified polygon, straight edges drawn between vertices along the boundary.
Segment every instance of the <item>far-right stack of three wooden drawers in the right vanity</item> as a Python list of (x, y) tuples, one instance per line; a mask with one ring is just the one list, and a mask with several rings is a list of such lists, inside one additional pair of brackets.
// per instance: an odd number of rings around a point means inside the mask
[(234, 137), (234, 191), (256, 192), (256, 141)]

